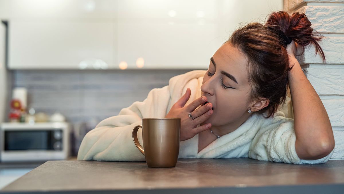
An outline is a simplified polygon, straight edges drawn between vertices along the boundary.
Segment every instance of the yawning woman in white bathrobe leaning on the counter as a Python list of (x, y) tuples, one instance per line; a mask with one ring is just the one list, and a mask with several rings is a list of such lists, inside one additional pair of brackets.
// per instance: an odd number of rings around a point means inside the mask
[[(331, 123), (294, 55), (295, 42), (301, 48), (311, 44), (325, 61), (321, 37), (310, 26), (304, 14), (280, 11), (265, 25), (237, 29), (215, 52), (207, 71), (175, 76), (168, 86), (152, 89), (144, 101), (100, 122), (84, 137), (78, 159), (145, 161), (132, 141), (132, 129), (141, 118), (177, 117), (179, 158), (328, 161), (334, 150)], [(294, 119), (278, 111), (288, 86)], [(140, 130), (138, 137), (142, 145)]]

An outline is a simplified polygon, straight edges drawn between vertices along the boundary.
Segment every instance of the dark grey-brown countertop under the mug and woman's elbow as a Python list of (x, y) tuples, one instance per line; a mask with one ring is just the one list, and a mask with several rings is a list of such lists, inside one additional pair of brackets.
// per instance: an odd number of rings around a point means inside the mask
[(295, 165), (249, 158), (146, 162), (48, 161), (0, 193), (343, 193), (344, 160)]

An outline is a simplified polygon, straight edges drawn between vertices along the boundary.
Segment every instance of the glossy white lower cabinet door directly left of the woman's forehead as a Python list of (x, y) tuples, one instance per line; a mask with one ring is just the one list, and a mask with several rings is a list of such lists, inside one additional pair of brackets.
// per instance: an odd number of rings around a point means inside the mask
[(207, 69), (219, 46), (211, 44), (216, 28), (212, 23), (119, 23), (118, 59), (128, 69), (137, 69), (138, 57), (144, 59), (144, 69)]

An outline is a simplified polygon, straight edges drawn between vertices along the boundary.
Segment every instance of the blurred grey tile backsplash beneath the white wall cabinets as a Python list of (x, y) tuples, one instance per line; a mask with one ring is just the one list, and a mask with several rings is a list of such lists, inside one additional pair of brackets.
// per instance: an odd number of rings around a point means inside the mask
[[(13, 70), (14, 87), (28, 90), (28, 108), (63, 114), (77, 130), (75, 155), (83, 135), (122, 108), (146, 99), (153, 88), (191, 70)], [(7, 113), (8, 115), (8, 113)], [(86, 127), (85, 127), (86, 126)]]

